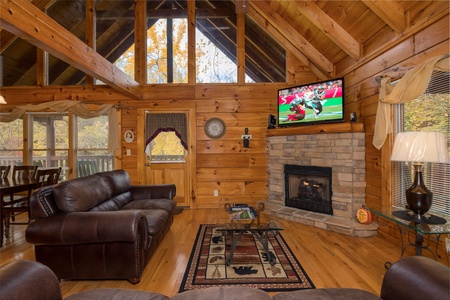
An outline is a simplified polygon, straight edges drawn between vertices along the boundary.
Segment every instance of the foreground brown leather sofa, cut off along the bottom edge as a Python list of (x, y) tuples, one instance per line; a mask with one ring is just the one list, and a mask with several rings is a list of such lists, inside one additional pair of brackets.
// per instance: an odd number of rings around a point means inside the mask
[[(130, 289), (94, 289), (73, 294), (66, 300), (448, 300), (450, 269), (427, 257), (401, 259), (386, 272), (380, 297), (351, 288), (306, 289), (270, 296), (254, 288), (214, 287), (173, 297)], [(0, 299), (61, 300), (62, 296), (58, 279), (49, 268), (34, 261), (18, 260), (0, 268)]]

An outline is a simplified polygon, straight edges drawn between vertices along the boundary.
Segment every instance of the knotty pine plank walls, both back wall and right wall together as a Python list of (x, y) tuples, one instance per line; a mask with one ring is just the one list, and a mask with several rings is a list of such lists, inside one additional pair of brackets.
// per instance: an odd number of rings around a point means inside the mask
[[(424, 26), (410, 36), (403, 36), (389, 47), (379, 50), (370, 60), (336, 66), (336, 76), (345, 76), (346, 111), (356, 112), (359, 122), (364, 123), (366, 134), (366, 203), (374, 208), (389, 205), (388, 155), (390, 144), (381, 150), (372, 146), (375, 114), (377, 110), (378, 86), (376, 76), (398, 76), (436, 55), (449, 50), (449, 16)], [(298, 69), (295, 59), (288, 59)], [(253, 202), (267, 198), (267, 149), (266, 128), (268, 114), (276, 114), (277, 95), (280, 87), (293, 83), (310, 82), (315, 76), (303, 70), (304, 76), (291, 76), (289, 84), (205, 84), (164, 85), (144, 88), (144, 100), (129, 100), (124, 94), (108, 87), (11, 87), (2, 89), (7, 99), (15, 105), (38, 103), (56, 99), (74, 99), (92, 102), (119, 103), (129, 106), (121, 113), (122, 136), (126, 130), (136, 131), (137, 109), (151, 109), (155, 105), (166, 105), (176, 109), (189, 102), (196, 109), (197, 167), (195, 185), (191, 191), (197, 207), (218, 207), (223, 202)], [(11, 105), (2, 106), (7, 109)], [(222, 118), (227, 131), (219, 140), (209, 140), (204, 134), (204, 123), (211, 117)], [(348, 118), (348, 116), (346, 116)], [(241, 134), (244, 128), (253, 135), (250, 148), (243, 148)], [(137, 137), (139, 138), (139, 137)], [(122, 144), (118, 159), (133, 182), (138, 176), (137, 144), (126, 144), (132, 151), (125, 155)], [(213, 196), (213, 190), (219, 196)]]

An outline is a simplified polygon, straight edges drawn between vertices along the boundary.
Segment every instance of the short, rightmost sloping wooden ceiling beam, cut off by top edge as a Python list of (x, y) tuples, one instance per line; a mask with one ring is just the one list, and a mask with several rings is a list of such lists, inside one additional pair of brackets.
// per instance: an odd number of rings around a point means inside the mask
[(362, 0), (362, 2), (396, 33), (405, 31), (405, 11), (400, 4), (395, 1), (378, 0)]

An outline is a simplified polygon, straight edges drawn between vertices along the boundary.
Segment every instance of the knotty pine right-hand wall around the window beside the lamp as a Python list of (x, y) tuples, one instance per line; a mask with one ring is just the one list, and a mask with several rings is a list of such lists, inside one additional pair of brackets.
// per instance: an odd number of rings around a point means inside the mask
[[(345, 74), (346, 108), (357, 107), (359, 103), (358, 118), (364, 122), (366, 130), (366, 205), (370, 207), (379, 209), (391, 205), (388, 198), (392, 180), (389, 160), (392, 140), (388, 138), (381, 150), (372, 145), (379, 92), (375, 78), (380, 75), (400, 77), (427, 59), (449, 53), (449, 23), (446, 15)], [(380, 226), (379, 231), (398, 237), (398, 230), (391, 226)]]

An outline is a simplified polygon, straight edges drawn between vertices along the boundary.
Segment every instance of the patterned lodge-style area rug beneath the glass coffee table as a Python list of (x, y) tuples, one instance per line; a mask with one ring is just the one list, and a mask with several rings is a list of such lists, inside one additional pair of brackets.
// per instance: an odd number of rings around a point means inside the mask
[(269, 249), (276, 256), (271, 266), (261, 243), (246, 232), (239, 240), (230, 266), (230, 238), (200, 225), (179, 292), (213, 286), (246, 286), (265, 291), (315, 288), (281, 234), (270, 237)]

